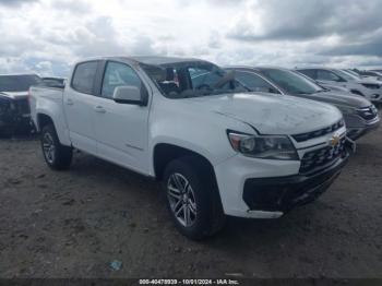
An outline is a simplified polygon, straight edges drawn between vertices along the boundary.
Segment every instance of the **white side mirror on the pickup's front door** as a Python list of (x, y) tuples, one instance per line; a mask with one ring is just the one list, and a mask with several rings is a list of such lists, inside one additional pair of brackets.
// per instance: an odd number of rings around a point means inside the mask
[(112, 99), (118, 104), (129, 104), (145, 106), (147, 97), (141, 93), (140, 88), (132, 85), (123, 85), (115, 88)]

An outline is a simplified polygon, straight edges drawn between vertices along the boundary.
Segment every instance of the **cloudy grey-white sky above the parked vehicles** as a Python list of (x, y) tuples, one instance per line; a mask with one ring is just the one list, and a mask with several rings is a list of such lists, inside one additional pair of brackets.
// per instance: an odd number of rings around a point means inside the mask
[(382, 67), (382, 0), (0, 0), (0, 72), (102, 55)]

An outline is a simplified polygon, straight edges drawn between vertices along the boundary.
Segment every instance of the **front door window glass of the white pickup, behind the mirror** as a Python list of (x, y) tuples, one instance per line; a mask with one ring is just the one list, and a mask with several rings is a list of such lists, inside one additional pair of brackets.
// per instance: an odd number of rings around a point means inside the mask
[(142, 82), (136, 72), (128, 64), (108, 62), (104, 75), (102, 96), (112, 98), (116, 87), (126, 85), (141, 90)]

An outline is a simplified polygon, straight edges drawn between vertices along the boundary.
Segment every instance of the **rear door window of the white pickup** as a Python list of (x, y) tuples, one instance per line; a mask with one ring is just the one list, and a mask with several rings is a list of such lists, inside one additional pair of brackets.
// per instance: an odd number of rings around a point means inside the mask
[(97, 73), (97, 61), (79, 63), (75, 68), (72, 87), (79, 93), (93, 94), (93, 86)]

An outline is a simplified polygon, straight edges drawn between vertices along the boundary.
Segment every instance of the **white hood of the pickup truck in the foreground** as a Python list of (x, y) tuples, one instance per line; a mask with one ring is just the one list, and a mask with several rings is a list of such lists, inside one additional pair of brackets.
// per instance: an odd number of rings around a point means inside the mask
[(293, 96), (240, 93), (186, 99), (198, 110), (212, 111), (252, 126), (262, 134), (297, 134), (331, 126), (342, 118), (333, 106)]

